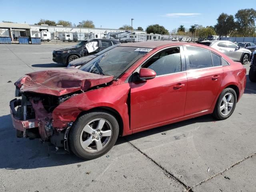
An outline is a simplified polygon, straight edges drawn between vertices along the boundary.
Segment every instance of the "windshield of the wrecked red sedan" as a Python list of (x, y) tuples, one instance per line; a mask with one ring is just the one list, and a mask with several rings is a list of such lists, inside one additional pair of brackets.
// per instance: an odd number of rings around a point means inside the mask
[(90, 60), (79, 69), (90, 73), (118, 77), (146, 53), (140, 51), (138, 47), (118, 46)]

